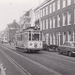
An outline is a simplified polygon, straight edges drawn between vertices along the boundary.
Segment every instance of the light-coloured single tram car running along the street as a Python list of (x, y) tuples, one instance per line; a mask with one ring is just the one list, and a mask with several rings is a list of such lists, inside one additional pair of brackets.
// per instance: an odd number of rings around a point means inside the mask
[(23, 52), (40, 51), (43, 49), (42, 32), (35, 29), (25, 29), (22, 32), (17, 32), (16, 49)]

